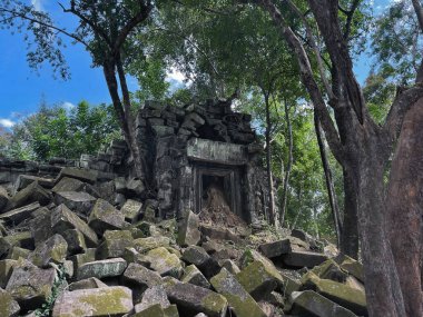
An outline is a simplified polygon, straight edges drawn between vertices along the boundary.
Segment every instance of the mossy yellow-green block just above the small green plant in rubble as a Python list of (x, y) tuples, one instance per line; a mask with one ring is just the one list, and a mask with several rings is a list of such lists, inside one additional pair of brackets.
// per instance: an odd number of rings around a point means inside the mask
[(40, 244), (29, 257), (38, 267), (47, 267), (50, 261), (63, 262), (68, 252), (68, 242), (60, 235), (55, 235)]

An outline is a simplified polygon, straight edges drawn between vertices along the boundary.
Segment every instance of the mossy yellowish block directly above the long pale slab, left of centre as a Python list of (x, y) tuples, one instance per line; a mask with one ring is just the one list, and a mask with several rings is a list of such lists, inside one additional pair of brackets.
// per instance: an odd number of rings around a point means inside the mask
[(102, 244), (97, 248), (97, 258), (122, 257), (125, 248), (132, 245), (132, 235), (129, 230), (107, 230)]

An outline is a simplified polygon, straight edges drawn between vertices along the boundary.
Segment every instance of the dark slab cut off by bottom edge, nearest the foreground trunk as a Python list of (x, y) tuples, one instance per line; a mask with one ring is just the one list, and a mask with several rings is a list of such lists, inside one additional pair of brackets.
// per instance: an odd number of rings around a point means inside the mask
[(351, 310), (341, 307), (332, 300), (318, 295), (313, 290), (294, 291), (289, 296), (293, 315), (317, 316), (317, 317), (357, 317)]

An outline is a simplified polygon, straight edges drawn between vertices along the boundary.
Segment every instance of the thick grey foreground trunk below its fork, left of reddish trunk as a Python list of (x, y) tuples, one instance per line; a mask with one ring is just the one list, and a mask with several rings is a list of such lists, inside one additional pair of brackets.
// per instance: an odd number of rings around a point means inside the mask
[[(374, 147), (375, 148), (375, 147)], [(377, 151), (361, 151), (358, 224), (368, 314), (372, 317), (405, 314), (400, 278), (385, 230), (383, 171)]]

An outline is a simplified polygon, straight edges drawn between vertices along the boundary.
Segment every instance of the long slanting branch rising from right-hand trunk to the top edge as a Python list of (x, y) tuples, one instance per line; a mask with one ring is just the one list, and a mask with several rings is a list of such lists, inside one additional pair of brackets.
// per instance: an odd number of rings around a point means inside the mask
[(313, 105), (316, 108), (316, 111), (318, 112), (322, 127), (324, 128), (326, 135), (327, 143), (329, 145), (335, 158), (338, 161), (342, 161), (344, 158), (343, 145), (340, 140), (340, 136), (336, 131), (331, 115), (326, 108), (326, 103), (323, 99), (322, 92), (319, 91), (318, 85), (314, 79), (312, 66), (309, 63), (307, 53), (305, 52), (303, 44), (295, 36), (293, 30), (289, 27), (287, 27), (286, 21), (281, 14), (281, 11), (275, 7), (275, 4), (270, 0), (257, 1), (265, 10), (267, 10), (270, 13), (272, 19), (279, 28), (282, 36), (285, 38), (292, 50), (295, 52), (298, 59), (303, 83), (305, 85), (312, 98)]

